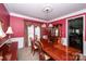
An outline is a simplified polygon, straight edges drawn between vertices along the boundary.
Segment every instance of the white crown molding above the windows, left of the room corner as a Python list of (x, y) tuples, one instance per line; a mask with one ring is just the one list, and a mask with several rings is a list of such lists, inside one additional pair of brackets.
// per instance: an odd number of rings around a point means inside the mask
[(27, 18), (27, 20), (35, 20), (35, 21), (37, 21), (37, 22), (48, 23), (48, 22), (45, 21), (45, 20), (34, 18), (34, 17), (25, 16), (25, 15), (17, 14), (17, 13), (13, 13), (13, 12), (10, 12), (10, 15), (11, 15), (11, 16), (16, 16), (16, 17), (23, 17), (23, 18)]

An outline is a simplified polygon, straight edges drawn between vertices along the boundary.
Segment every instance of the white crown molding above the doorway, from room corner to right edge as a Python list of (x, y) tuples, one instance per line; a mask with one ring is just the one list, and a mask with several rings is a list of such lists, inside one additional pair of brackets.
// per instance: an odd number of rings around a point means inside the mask
[(78, 14), (82, 14), (82, 13), (86, 13), (86, 9), (83, 9), (83, 10), (79, 10), (79, 11), (63, 15), (63, 16), (54, 18), (54, 20), (51, 20), (51, 21), (49, 21), (49, 23), (58, 21), (58, 20), (66, 18), (66, 17), (70, 17), (70, 16), (78, 15)]

